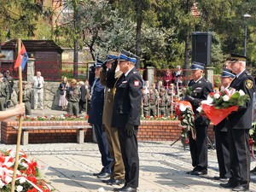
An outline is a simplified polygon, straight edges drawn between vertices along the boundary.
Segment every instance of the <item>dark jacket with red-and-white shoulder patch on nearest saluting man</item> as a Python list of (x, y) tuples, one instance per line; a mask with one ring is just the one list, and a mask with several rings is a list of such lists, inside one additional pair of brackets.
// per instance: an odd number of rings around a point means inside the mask
[(140, 125), (142, 113), (143, 79), (134, 67), (123, 74), (115, 84), (112, 126), (125, 128), (125, 124)]

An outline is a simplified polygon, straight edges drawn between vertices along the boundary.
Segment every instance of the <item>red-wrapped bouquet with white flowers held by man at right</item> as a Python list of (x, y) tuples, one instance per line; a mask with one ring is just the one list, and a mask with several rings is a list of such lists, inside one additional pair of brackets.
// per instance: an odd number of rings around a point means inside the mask
[(238, 107), (243, 106), (249, 99), (243, 90), (225, 89), (218, 93), (210, 93), (207, 100), (201, 102), (201, 107), (197, 108), (197, 111), (200, 113), (203, 111), (214, 125), (218, 125), (232, 111), (237, 111)]

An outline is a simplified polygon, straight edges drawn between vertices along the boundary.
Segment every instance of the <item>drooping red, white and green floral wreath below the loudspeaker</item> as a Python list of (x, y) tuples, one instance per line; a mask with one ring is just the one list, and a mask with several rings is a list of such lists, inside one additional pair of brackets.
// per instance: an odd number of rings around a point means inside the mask
[(192, 137), (195, 139), (195, 117), (190, 102), (177, 101), (176, 103), (176, 115), (180, 120), (180, 127), (182, 128), (182, 137), (188, 137), (188, 131), (191, 131)]

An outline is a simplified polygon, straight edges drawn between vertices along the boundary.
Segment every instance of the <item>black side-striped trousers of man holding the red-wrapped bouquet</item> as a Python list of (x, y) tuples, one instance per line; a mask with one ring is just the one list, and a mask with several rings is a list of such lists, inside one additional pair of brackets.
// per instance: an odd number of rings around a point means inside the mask
[(228, 129), (230, 144), (231, 183), (247, 185), (250, 183), (251, 154), (249, 146), (249, 129)]

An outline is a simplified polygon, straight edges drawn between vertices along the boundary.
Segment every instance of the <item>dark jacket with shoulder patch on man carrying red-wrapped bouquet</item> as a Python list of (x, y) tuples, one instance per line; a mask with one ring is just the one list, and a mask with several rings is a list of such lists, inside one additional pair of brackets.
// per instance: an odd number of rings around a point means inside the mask
[(243, 90), (245, 94), (250, 96), (250, 101), (244, 106), (238, 108), (236, 112), (230, 113), (228, 116), (230, 127), (232, 129), (251, 129), (252, 128), (252, 110), (253, 110), (253, 92), (255, 91), (255, 83), (253, 76), (247, 70), (234, 79), (230, 87), (235, 90)]

